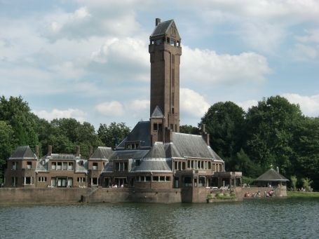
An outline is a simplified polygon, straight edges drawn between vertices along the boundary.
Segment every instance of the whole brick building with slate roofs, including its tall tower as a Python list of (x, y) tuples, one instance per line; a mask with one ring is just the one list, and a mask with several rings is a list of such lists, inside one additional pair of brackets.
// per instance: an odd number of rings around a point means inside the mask
[(205, 189), (241, 186), (241, 172), (225, 172), (210, 148), (205, 125), (201, 135), (179, 132), (179, 64), (182, 45), (174, 20), (161, 22), (149, 37), (151, 97), (149, 121), (141, 121), (116, 149), (98, 147), (90, 158), (76, 153), (38, 157), (18, 146), (8, 159), (5, 187), (110, 187)]

